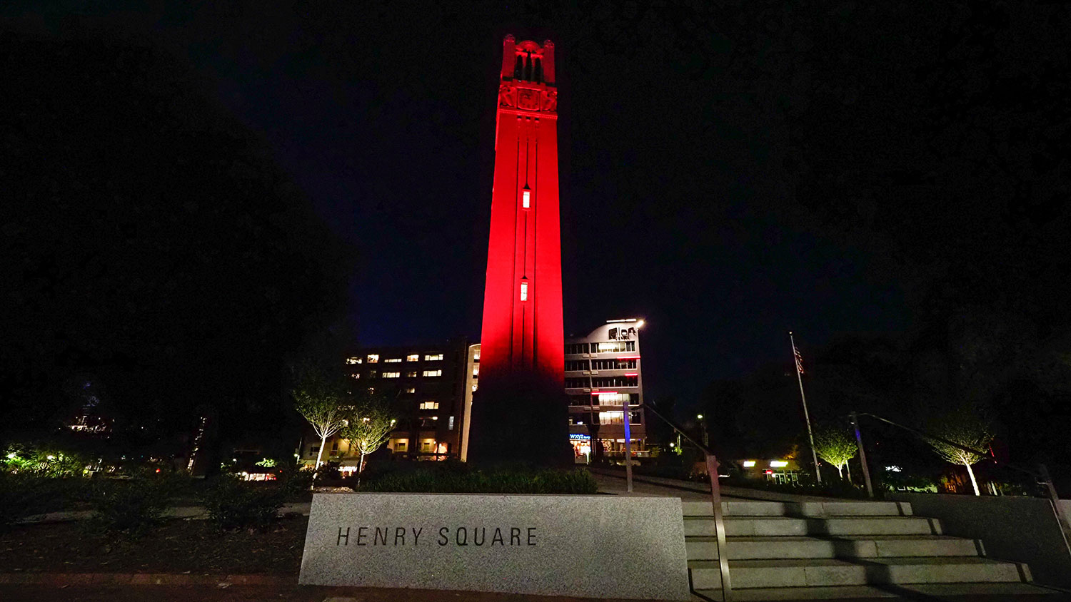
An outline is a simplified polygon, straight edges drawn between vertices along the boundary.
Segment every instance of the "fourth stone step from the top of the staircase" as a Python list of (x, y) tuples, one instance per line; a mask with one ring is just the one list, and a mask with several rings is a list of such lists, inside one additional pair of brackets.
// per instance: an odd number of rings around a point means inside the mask
[[(693, 589), (721, 588), (721, 571), (716, 561), (690, 560), (688, 566)], [(729, 574), (734, 590), (750, 587), (1030, 581), (1025, 565), (977, 556), (729, 560)]]

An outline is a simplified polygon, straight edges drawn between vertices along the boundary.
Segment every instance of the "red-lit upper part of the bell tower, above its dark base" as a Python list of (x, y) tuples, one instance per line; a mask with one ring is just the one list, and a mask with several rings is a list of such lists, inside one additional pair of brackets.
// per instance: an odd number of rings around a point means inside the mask
[(558, 92), (554, 44), (502, 44), (480, 381), (538, 374), (562, 386)]

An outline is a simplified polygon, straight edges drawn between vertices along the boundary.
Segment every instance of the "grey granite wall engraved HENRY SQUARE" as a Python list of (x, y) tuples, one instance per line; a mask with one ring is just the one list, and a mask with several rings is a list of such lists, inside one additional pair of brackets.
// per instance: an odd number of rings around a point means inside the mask
[(674, 497), (316, 494), (299, 582), (689, 598)]

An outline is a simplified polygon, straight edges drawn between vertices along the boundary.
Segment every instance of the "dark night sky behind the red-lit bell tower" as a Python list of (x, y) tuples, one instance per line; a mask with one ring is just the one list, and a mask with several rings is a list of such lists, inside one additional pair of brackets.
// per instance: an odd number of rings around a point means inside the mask
[(180, 6), (84, 18), (187, 58), (268, 140), (359, 249), (358, 344), (479, 338), (507, 33), (556, 45), (565, 334), (644, 318), (649, 397), (787, 368), (788, 329), (806, 357), (838, 333), (907, 325), (876, 247), (794, 211), (789, 124), (734, 71), (731, 32), (628, 2)]

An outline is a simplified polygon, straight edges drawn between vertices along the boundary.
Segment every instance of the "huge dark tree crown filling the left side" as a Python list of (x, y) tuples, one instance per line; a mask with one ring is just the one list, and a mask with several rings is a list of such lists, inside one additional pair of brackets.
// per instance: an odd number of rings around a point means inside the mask
[(0, 56), (3, 429), (54, 427), (76, 377), (152, 441), (202, 414), (277, 432), (284, 362), (342, 312), (348, 248), (153, 44), (7, 32)]

